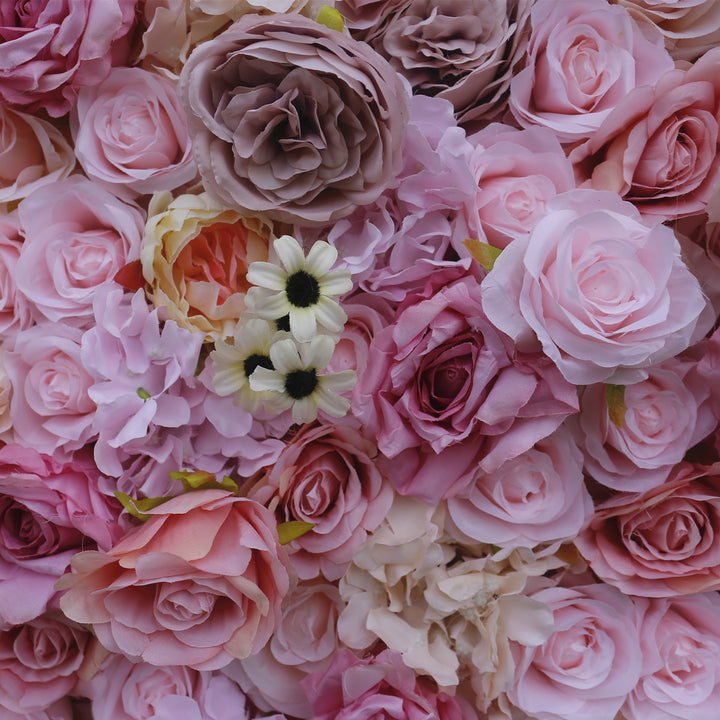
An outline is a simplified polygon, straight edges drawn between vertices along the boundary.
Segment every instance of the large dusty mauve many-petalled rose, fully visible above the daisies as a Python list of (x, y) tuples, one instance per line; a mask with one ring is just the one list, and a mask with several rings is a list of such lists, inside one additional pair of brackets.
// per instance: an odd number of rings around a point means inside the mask
[(207, 191), (242, 212), (334, 221), (402, 164), (409, 98), (397, 73), (301, 15), (240, 18), (196, 48), (180, 94)]

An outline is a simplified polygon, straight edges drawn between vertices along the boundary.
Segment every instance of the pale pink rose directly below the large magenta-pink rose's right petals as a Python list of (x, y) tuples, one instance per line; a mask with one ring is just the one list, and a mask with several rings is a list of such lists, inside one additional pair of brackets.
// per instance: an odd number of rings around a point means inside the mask
[(559, 428), (447, 501), (446, 527), (461, 542), (534, 547), (573, 540), (589, 522), (582, 454)]

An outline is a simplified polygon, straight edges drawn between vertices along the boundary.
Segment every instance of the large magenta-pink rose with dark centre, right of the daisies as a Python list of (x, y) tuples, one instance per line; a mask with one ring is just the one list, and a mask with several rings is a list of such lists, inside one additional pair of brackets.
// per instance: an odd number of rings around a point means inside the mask
[(435, 281), (376, 335), (353, 392), (395, 487), (433, 503), (478, 467), (492, 472), (528, 450), (577, 407), (575, 388), (546, 358), (516, 353), (488, 322), (475, 278)]

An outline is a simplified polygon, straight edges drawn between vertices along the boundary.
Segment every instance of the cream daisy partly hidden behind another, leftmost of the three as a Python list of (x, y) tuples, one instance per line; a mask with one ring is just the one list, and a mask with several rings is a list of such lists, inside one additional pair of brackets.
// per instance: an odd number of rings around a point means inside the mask
[(276, 393), (256, 392), (250, 387), (249, 379), (258, 367), (273, 369), (270, 348), (278, 340), (289, 337), (289, 333), (278, 331), (274, 325), (260, 318), (239, 323), (235, 328), (233, 344), (218, 340), (210, 353), (215, 392), (223, 397), (235, 395), (235, 404), (252, 414), (263, 408), (270, 414), (281, 412)]

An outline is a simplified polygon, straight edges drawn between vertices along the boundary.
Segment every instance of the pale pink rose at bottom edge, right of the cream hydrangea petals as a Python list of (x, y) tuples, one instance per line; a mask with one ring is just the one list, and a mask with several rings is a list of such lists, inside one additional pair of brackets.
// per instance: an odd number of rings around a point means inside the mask
[(533, 720), (614, 720), (642, 666), (630, 598), (602, 584), (532, 597), (552, 610), (555, 632), (538, 647), (515, 645), (510, 702)]

